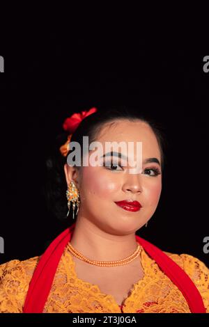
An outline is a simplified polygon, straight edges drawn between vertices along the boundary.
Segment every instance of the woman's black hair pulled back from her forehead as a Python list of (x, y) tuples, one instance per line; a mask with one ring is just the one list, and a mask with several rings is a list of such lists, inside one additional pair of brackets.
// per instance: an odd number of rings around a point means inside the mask
[[(83, 110), (83, 109), (82, 109)], [(77, 127), (72, 134), (71, 142), (77, 141), (83, 150), (83, 136), (88, 136), (88, 144), (96, 141), (98, 134), (105, 124), (114, 122), (116, 120), (141, 120), (150, 125), (151, 129), (157, 138), (157, 143), (160, 147), (161, 154), (161, 168), (164, 169), (164, 150), (167, 145), (166, 136), (164, 134), (164, 127), (160, 122), (144, 114), (138, 113), (136, 110), (127, 109), (127, 107), (117, 107), (113, 109), (104, 109), (87, 116)], [(67, 141), (69, 133), (59, 134), (56, 137), (55, 144), (51, 150), (50, 156), (46, 160), (46, 181), (45, 181), (45, 199), (47, 201), (47, 208), (56, 218), (65, 220), (68, 212), (67, 198), (65, 196), (67, 190), (67, 183), (65, 180), (64, 164), (67, 162), (67, 157), (63, 157), (59, 151), (59, 147)], [(72, 149), (71, 149), (72, 150)], [(70, 150), (70, 151), (71, 151)], [(69, 154), (70, 152), (68, 152)], [(83, 155), (83, 153), (82, 153)], [(81, 167), (78, 166), (79, 170)], [(70, 217), (70, 218), (69, 218)], [(72, 213), (68, 216), (72, 223)]]

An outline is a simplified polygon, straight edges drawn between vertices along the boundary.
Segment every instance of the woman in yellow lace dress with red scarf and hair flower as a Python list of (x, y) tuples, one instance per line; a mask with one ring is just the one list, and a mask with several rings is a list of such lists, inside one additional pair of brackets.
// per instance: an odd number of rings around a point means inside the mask
[[(75, 113), (63, 127), (68, 132), (60, 147), (63, 175), (56, 175), (59, 186), (51, 179), (48, 186), (59, 214), (65, 205), (59, 207), (56, 194), (68, 186), (68, 214), (76, 223), (40, 257), (0, 266), (0, 312), (209, 312), (206, 265), (192, 255), (164, 253), (135, 234), (160, 200), (160, 130), (131, 111), (100, 113), (95, 108)], [(83, 148), (83, 136), (104, 149), (95, 165), (90, 161), (95, 148)], [(76, 166), (69, 165), (73, 141), (81, 145), (87, 165), (79, 165), (79, 159)], [(105, 152), (113, 141), (134, 143), (134, 160), (142, 164), (137, 173), (132, 161), (123, 158), (129, 159), (129, 151)], [(137, 142), (141, 156), (136, 156)]]

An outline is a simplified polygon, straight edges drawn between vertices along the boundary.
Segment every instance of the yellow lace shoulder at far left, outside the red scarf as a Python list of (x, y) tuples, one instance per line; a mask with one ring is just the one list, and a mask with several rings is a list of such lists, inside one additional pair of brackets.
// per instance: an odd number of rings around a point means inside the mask
[(0, 312), (22, 312), (29, 282), (40, 257), (0, 265)]

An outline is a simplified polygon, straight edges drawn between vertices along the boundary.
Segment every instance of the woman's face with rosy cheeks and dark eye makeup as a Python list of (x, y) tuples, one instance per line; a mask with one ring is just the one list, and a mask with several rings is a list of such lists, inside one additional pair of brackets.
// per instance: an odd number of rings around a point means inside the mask
[[(134, 160), (137, 160), (137, 142), (142, 142), (142, 162), (148, 158), (160, 160), (160, 148), (153, 130), (145, 122), (118, 120), (112, 125), (105, 125), (96, 141), (102, 143), (103, 153), (105, 142), (134, 142)], [(89, 152), (89, 157), (94, 151)], [(129, 155), (118, 148), (118, 152)], [(78, 178), (80, 193), (79, 214), (82, 219), (88, 219), (105, 232), (111, 234), (130, 234), (139, 230), (153, 216), (160, 200), (162, 189), (162, 170), (158, 163), (143, 163), (140, 173), (130, 173), (127, 161), (118, 159), (118, 164), (112, 165), (113, 157), (98, 159), (98, 166), (83, 166)], [(105, 164), (106, 160), (106, 165)], [(138, 158), (139, 160), (139, 158)], [(154, 170), (153, 170), (154, 169)], [(160, 174), (155, 175), (155, 170)], [(129, 212), (116, 205), (121, 200), (137, 200), (141, 209)]]

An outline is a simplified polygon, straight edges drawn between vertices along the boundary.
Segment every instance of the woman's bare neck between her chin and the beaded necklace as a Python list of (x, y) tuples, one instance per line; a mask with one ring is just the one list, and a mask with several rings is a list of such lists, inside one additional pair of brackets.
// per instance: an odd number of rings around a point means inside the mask
[(121, 260), (132, 255), (138, 245), (135, 233), (110, 234), (83, 216), (77, 216), (70, 244), (88, 259), (96, 261)]

